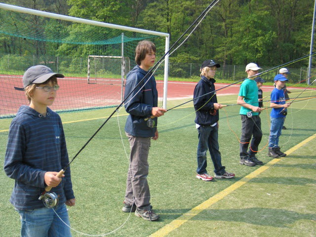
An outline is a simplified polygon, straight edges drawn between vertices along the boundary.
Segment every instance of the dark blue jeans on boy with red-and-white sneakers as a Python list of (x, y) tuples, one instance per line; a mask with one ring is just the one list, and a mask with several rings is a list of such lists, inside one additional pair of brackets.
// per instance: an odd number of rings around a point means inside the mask
[(211, 126), (199, 126), (198, 131), (198, 145), (197, 145), (197, 173), (207, 173), (206, 166), (206, 152), (207, 149), (211, 155), (214, 173), (222, 175), (225, 173), (225, 166), (222, 165), (221, 153), (219, 152), (218, 145), (218, 128), (217, 125)]

